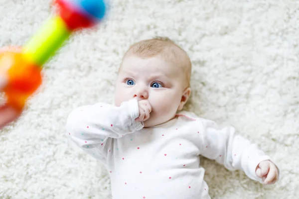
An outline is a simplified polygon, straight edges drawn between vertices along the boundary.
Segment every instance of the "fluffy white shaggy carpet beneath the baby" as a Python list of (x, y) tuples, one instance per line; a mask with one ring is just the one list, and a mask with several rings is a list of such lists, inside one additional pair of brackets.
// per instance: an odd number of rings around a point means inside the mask
[[(50, 0), (0, 0), (0, 46), (22, 45)], [(168, 36), (193, 64), (187, 109), (236, 127), (280, 166), (263, 186), (202, 158), (213, 199), (299, 198), (299, 3), (296, 0), (111, 0), (105, 22), (75, 35), (46, 65), (19, 120), (0, 130), (0, 199), (110, 199), (103, 165), (67, 139), (80, 105), (113, 103), (125, 50)]]

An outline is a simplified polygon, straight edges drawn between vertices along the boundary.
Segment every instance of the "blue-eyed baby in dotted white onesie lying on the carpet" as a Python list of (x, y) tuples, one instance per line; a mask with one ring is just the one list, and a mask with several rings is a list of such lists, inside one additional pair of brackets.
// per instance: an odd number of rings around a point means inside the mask
[(188, 55), (170, 39), (143, 40), (124, 55), (115, 105), (70, 113), (68, 136), (106, 165), (113, 199), (210, 199), (199, 155), (266, 185), (278, 180), (271, 158), (233, 127), (182, 111), (190, 75)]

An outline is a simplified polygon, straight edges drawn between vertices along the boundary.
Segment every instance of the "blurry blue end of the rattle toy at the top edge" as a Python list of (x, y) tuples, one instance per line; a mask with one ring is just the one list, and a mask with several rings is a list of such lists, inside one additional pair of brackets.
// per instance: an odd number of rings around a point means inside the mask
[(105, 16), (106, 5), (104, 0), (75, 0), (83, 10), (97, 19)]

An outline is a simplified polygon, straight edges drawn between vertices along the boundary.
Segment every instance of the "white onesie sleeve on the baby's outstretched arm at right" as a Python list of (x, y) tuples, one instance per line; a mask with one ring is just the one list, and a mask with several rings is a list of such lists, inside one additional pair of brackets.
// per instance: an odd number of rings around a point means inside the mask
[[(241, 170), (250, 179), (262, 183), (262, 179), (256, 175), (258, 164), (264, 160), (273, 163), (274, 161), (260, 150), (257, 144), (237, 135), (234, 127), (220, 128), (214, 121), (207, 119), (201, 119), (201, 122), (203, 125), (201, 155), (216, 160), (228, 170)], [(280, 177), (279, 168), (278, 171)]]

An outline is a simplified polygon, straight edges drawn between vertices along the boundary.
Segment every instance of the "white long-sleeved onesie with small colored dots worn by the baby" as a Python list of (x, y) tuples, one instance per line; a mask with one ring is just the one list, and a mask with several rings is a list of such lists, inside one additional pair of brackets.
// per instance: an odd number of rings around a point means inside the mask
[(120, 107), (81, 106), (67, 119), (70, 139), (106, 165), (113, 199), (210, 199), (199, 155), (261, 182), (255, 169), (270, 158), (233, 127), (220, 129), (181, 111), (163, 124), (143, 128), (143, 122), (135, 121), (138, 116), (138, 102), (130, 100)]

